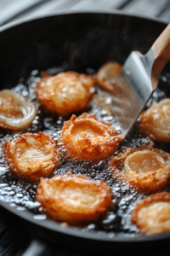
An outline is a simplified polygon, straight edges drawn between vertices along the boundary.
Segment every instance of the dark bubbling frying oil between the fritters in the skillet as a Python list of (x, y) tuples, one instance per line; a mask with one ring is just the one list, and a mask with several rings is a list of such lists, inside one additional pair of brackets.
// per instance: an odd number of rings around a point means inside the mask
[[(50, 74), (56, 74), (65, 71), (64, 67), (53, 67), (47, 70)], [(86, 73), (93, 74), (95, 71), (91, 68), (86, 70)], [(111, 173), (111, 168), (108, 167), (108, 160), (100, 160), (99, 162), (92, 161), (77, 161), (69, 160), (65, 154), (65, 148), (62, 148), (62, 144), (59, 143), (59, 136), (62, 130), (63, 122), (65, 121), (62, 117), (49, 116), (39, 106), (36, 101), (36, 86), (37, 82), (40, 81), (40, 73), (37, 70), (31, 72), (28, 79), (20, 79), (12, 90), (20, 93), (22, 96), (29, 97), (31, 102), (37, 105), (38, 111), (37, 116), (33, 120), (31, 126), (24, 132), (38, 132), (42, 131), (52, 137), (57, 143), (60, 150), (61, 161), (59, 166), (54, 169), (54, 173), (51, 177), (57, 174), (65, 175), (66, 172), (73, 172), (74, 174), (81, 173), (82, 175), (89, 177), (90, 179), (98, 182), (104, 180), (111, 187), (112, 196), (112, 207), (110, 212), (107, 213), (105, 219), (97, 224), (91, 223), (88, 226), (79, 227), (83, 231), (98, 232), (104, 234), (104, 236), (139, 236), (139, 230), (134, 224), (131, 223), (130, 217), (133, 208), (137, 201), (140, 201), (146, 195), (141, 193), (138, 189), (132, 185), (123, 182), (117, 182), (116, 178)], [(160, 79), (160, 84), (169, 84), (168, 77), (163, 76)], [(152, 102), (159, 102), (162, 98), (165, 98), (163, 90), (157, 88), (156, 92), (148, 102), (147, 107), (150, 107)], [(111, 95), (99, 87), (96, 87), (94, 99), (91, 102), (91, 106), (88, 107), (88, 113), (96, 113), (97, 119), (105, 122), (112, 122), (116, 131), (121, 131), (111, 112)], [(67, 119), (70, 119), (68, 117)], [(23, 132), (23, 131), (22, 131)], [(21, 132), (17, 134), (11, 133), (6, 134), (3, 129), (0, 129), (0, 144), (6, 140), (11, 141), (17, 137)], [(150, 139), (143, 137), (135, 128), (131, 131), (127, 138), (121, 144), (119, 151), (115, 155), (119, 154), (123, 148), (126, 147), (138, 147), (139, 145), (149, 143)], [(169, 151), (168, 145), (157, 144), (157, 148), (161, 148), (165, 151)], [(10, 207), (16, 207), (19, 211), (30, 211), (35, 219), (45, 219), (46, 216), (42, 215), (38, 211), (40, 206), (39, 202), (36, 201), (37, 182), (28, 182), (23, 180), (14, 179), (11, 176), (9, 167), (6, 164), (3, 154), (0, 154), (0, 200), (8, 202)], [(168, 185), (167, 185), (167, 191)]]

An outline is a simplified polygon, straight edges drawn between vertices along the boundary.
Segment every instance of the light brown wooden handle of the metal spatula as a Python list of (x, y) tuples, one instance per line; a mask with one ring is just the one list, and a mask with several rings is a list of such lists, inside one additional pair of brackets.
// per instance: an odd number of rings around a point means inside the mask
[(156, 57), (152, 66), (151, 79), (152, 82), (156, 82), (159, 79), (162, 68), (170, 60), (170, 24), (156, 39), (151, 49)]

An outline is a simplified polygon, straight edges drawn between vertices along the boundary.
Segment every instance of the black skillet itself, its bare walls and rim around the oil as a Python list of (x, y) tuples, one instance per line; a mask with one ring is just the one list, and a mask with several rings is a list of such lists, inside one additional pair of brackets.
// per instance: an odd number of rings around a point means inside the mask
[[(28, 76), (31, 70), (46, 70), (63, 61), (69, 62), (72, 70), (78, 68), (80, 71), (85, 67), (98, 69), (106, 61), (123, 63), (132, 50), (138, 49), (144, 54), (150, 49), (165, 26), (160, 20), (117, 11), (65, 13), (3, 26), (0, 33), (0, 89), (14, 87), (20, 77)], [(5, 202), (1, 202), (1, 206), (13, 216), (29, 222), (31, 229), (35, 227), (34, 232), (45, 239), (73, 245), (76, 241), (79, 247), (106, 249), (124, 244), (127, 249), (132, 243), (139, 245), (143, 242), (146, 246), (170, 238), (170, 233), (110, 238), (71, 227), (61, 228), (48, 219), (35, 220), (31, 212), (20, 212)]]

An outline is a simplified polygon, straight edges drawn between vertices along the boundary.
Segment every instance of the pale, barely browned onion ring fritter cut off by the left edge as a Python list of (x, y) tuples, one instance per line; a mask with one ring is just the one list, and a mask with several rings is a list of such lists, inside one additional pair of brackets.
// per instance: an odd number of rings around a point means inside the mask
[(12, 90), (0, 91), (0, 126), (20, 130), (30, 125), (37, 114), (33, 103)]

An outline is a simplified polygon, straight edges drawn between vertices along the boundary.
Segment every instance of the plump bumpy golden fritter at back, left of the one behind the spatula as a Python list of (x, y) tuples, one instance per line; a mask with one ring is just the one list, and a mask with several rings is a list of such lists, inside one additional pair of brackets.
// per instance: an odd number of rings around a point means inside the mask
[(94, 79), (76, 72), (43, 77), (37, 84), (37, 98), (50, 112), (67, 115), (85, 108), (94, 96)]

